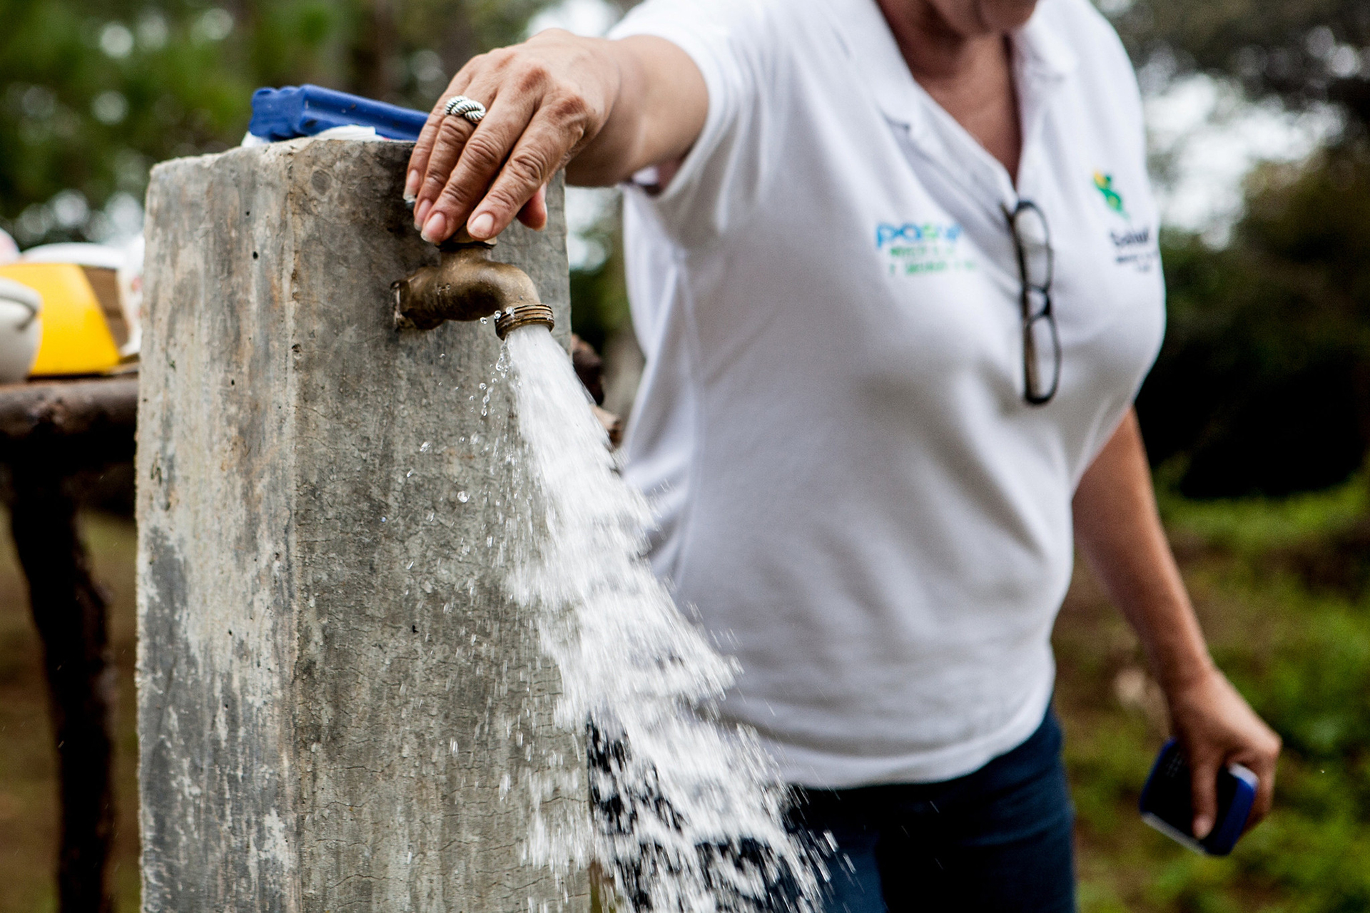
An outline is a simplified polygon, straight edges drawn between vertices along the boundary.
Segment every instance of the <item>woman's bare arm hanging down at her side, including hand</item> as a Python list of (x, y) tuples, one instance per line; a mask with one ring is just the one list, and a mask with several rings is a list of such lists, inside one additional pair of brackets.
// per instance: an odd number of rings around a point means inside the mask
[(1193, 771), (1195, 835), (1212, 830), (1218, 771), (1233, 762), (1260, 777), (1247, 821), (1255, 825), (1270, 810), (1280, 736), (1208, 656), (1160, 527), (1136, 412), (1129, 409), (1081, 479), (1074, 516), (1080, 550), (1136, 628), (1166, 693), (1171, 728)]

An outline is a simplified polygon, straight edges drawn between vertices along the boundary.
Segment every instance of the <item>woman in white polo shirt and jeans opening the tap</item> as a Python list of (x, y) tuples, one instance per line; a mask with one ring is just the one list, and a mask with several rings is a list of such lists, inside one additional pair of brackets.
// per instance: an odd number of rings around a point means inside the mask
[(1156, 211), (1086, 0), (649, 0), (614, 40), (471, 60), (407, 193), (429, 241), (489, 238), (540, 227), (563, 164), (636, 175), (627, 476), (741, 660), (725, 715), (849, 860), (832, 909), (1073, 909), (1049, 634), (1074, 545), (1164, 689), (1196, 835), (1221, 765), (1269, 810), (1280, 741), (1208, 656), (1130, 407)]

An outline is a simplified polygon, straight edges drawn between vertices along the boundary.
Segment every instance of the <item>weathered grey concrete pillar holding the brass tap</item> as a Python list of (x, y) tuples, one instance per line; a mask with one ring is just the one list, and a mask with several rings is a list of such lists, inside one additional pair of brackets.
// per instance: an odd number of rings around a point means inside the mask
[[(523, 860), (521, 783), (584, 802), (559, 680), (503, 591), (512, 434), (489, 324), (397, 333), (433, 261), (408, 146), (153, 171), (138, 412), (144, 910), (588, 906)], [(495, 256), (570, 327), (552, 227)], [(530, 908), (532, 902), (532, 908)]]

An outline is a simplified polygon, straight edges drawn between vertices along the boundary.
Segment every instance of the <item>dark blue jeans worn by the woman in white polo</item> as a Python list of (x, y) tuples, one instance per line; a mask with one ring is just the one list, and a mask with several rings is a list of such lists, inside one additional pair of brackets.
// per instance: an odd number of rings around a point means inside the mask
[(837, 850), (827, 913), (1074, 913), (1074, 813), (1047, 712), (1017, 749), (944, 783), (800, 790), (793, 827)]

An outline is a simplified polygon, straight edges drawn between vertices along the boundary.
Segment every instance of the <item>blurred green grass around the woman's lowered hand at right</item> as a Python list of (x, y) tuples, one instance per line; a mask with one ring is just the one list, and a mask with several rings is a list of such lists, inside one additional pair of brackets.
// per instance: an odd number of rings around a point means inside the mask
[(1163, 705), (1136, 641), (1077, 575), (1055, 639), (1084, 913), (1370, 910), (1367, 505), (1365, 478), (1282, 500), (1163, 493), (1214, 656), (1285, 741), (1275, 810), (1228, 860), (1195, 856), (1137, 819)]

